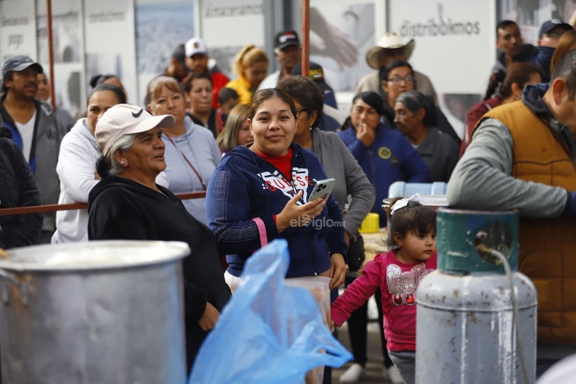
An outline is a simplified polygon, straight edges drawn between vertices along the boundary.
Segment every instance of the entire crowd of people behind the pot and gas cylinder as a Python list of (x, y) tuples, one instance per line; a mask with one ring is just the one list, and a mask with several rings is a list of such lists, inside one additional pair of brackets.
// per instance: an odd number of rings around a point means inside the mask
[[(293, 30), (274, 39), (278, 71), (269, 73), (267, 53), (247, 44), (233, 79), (209, 60), (202, 38), (178, 44), (140, 106), (127, 104), (118, 76), (97, 75), (77, 121), (47, 103), (40, 64), (11, 57), (1, 73), (0, 207), (77, 202), (88, 211), (0, 216), (0, 247), (187, 242), (191, 370), (246, 260), (282, 238), (287, 277), (329, 277), (332, 326), (348, 319), (354, 361), (340, 382), (366, 374), (366, 303), (375, 295), (384, 375), (412, 384), (415, 307), (394, 300), (389, 276), (436, 268), (436, 216), (417, 199), (395, 201), (387, 212), (382, 202), (395, 181), (442, 181), (453, 207), (519, 210), (520, 270), (538, 288), (541, 374), (576, 353), (576, 31), (547, 21), (536, 47), (514, 21), (502, 21), (496, 46), (484, 100), (469, 111), (463, 136), (438, 107), (432, 79), (408, 62), (415, 41), (392, 32), (367, 51), (374, 71), (358, 82), (349, 111), (338, 109), (322, 66), (310, 62), (302, 76)], [(310, 200), (315, 182), (328, 177), (336, 180), (332, 194)], [(180, 192), (206, 195), (180, 201)], [(352, 276), (346, 264), (357, 257), (369, 212), (388, 227), (392, 249)]]

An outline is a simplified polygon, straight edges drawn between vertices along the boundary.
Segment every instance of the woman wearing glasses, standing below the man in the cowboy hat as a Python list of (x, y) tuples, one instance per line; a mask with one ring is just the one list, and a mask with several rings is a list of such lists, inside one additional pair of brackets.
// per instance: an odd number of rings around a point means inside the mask
[[(387, 99), (384, 103), (384, 125), (395, 128), (394, 124), (394, 103), (400, 94), (409, 90), (415, 90), (416, 81), (414, 79), (414, 70), (408, 62), (404, 60), (394, 60), (387, 66), (380, 68), (382, 77), (382, 89), (387, 93)], [(446, 116), (440, 108), (435, 107), (437, 128), (454, 139), (456, 144), (460, 145), (462, 141), (460, 136), (454, 131), (454, 128), (448, 122)]]

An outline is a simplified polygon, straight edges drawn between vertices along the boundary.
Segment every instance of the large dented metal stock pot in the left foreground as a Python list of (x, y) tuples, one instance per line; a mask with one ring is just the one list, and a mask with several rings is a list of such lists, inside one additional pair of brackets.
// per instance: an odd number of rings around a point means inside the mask
[(14, 248), (0, 260), (2, 380), (185, 383), (183, 242)]

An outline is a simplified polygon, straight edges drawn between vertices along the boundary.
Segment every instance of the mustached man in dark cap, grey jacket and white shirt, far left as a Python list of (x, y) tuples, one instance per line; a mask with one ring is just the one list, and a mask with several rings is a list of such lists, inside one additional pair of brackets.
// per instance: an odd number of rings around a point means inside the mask
[[(38, 73), (42, 73), (42, 66), (25, 55), (17, 55), (4, 62), (0, 125), (12, 131), (14, 142), (30, 164), (40, 189), (42, 204), (55, 204), (60, 194), (56, 163), (66, 129), (49, 104), (35, 99)], [(44, 214), (40, 242), (50, 242), (54, 230), (55, 213)]]

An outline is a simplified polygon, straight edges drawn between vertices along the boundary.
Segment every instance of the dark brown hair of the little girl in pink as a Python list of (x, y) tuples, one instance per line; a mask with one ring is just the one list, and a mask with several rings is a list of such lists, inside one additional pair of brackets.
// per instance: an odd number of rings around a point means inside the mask
[[(406, 207), (397, 209), (392, 215), (392, 207), (394, 203), (404, 199), (398, 197), (392, 199), (387, 210), (388, 230), (400, 233), (402, 237), (408, 233), (419, 233), (424, 235), (430, 231), (436, 232), (436, 211), (429, 207), (421, 205), (417, 201), (408, 201)], [(393, 233), (388, 237), (388, 246), (397, 246), (394, 241)]]

